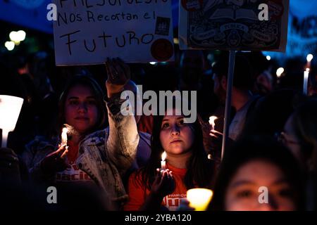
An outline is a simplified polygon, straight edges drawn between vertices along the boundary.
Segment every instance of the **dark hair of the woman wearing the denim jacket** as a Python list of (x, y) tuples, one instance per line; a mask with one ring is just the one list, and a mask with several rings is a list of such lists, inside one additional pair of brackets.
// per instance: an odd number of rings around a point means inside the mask
[(106, 105), (104, 103), (104, 93), (101, 90), (101, 87), (94, 80), (94, 78), (92, 78), (89, 75), (75, 75), (69, 80), (68, 84), (66, 84), (66, 88), (64, 89), (63, 93), (61, 94), (61, 97), (59, 98), (58, 122), (56, 127), (58, 131), (58, 135), (61, 133), (63, 124), (66, 123), (66, 120), (65, 120), (66, 98), (68, 96), (70, 89), (72, 89), (74, 86), (77, 86), (77, 85), (87, 86), (92, 91), (94, 98), (96, 98), (98, 119), (95, 126), (91, 130), (89, 130), (88, 133), (97, 131), (98, 129), (102, 129), (104, 127), (104, 123), (106, 120)]

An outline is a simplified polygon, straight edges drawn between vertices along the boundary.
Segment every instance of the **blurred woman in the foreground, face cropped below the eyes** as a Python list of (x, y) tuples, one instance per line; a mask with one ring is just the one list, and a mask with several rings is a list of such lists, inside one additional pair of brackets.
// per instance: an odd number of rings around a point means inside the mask
[(304, 210), (304, 173), (271, 138), (241, 139), (225, 153), (209, 210)]

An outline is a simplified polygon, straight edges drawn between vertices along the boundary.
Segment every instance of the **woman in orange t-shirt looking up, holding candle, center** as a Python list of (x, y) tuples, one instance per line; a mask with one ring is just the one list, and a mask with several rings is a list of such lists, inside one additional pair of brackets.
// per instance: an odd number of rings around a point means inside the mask
[[(166, 152), (166, 170), (160, 171)], [(125, 210), (177, 210), (189, 188), (211, 188), (213, 161), (208, 160), (199, 121), (185, 123), (177, 108), (154, 116), (151, 157), (129, 179)]]

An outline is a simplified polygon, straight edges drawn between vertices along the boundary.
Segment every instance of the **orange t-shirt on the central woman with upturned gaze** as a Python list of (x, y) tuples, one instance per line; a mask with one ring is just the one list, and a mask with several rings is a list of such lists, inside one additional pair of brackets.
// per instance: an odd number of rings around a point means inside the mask
[[(180, 200), (186, 198), (187, 188), (184, 184), (184, 177), (187, 169), (179, 169), (166, 164), (166, 168), (173, 172), (175, 179), (175, 190), (170, 195), (166, 195), (163, 198), (162, 205), (167, 207), (170, 211), (175, 211), (180, 205)], [(144, 185), (140, 185), (141, 177), (137, 176), (135, 180), (135, 173), (131, 174), (128, 184), (129, 201), (124, 206), (125, 211), (135, 211), (144, 204)], [(146, 196), (149, 195), (150, 191), (146, 191)]]

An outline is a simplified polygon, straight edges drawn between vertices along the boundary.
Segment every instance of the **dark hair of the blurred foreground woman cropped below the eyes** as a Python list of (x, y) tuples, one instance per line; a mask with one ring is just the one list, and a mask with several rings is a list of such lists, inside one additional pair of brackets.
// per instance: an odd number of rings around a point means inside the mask
[(240, 167), (252, 160), (266, 160), (278, 166), (292, 187), (297, 210), (304, 209), (304, 172), (290, 150), (271, 137), (249, 136), (240, 139), (225, 152), (209, 210), (225, 210), (225, 196), (230, 181)]

